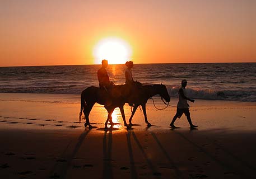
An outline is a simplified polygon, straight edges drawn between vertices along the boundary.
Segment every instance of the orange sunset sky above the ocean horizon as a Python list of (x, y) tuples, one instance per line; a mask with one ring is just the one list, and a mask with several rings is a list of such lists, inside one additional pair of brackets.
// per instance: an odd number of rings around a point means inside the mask
[[(128, 46), (134, 63), (256, 62), (255, 7), (254, 0), (2, 0), (0, 66), (99, 63), (99, 42), (111, 38)], [(122, 43), (104, 50), (115, 49), (127, 52)]]

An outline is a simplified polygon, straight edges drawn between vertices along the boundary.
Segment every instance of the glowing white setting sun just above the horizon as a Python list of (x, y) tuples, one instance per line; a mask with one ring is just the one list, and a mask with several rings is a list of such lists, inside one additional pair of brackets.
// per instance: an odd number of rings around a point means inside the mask
[(132, 50), (129, 44), (117, 37), (107, 37), (95, 45), (94, 58), (96, 64), (108, 60), (109, 64), (123, 64), (131, 58)]

